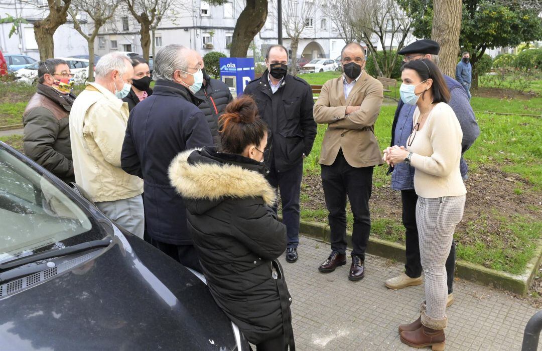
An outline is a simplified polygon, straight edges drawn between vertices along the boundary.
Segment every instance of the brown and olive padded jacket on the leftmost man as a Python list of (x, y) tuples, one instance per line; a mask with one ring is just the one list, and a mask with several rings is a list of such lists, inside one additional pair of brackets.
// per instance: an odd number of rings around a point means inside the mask
[[(70, 94), (70, 100), (74, 98)], [(59, 93), (38, 84), (23, 112), (24, 154), (66, 183), (75, 182), (69, 139), (71, 109)]]

